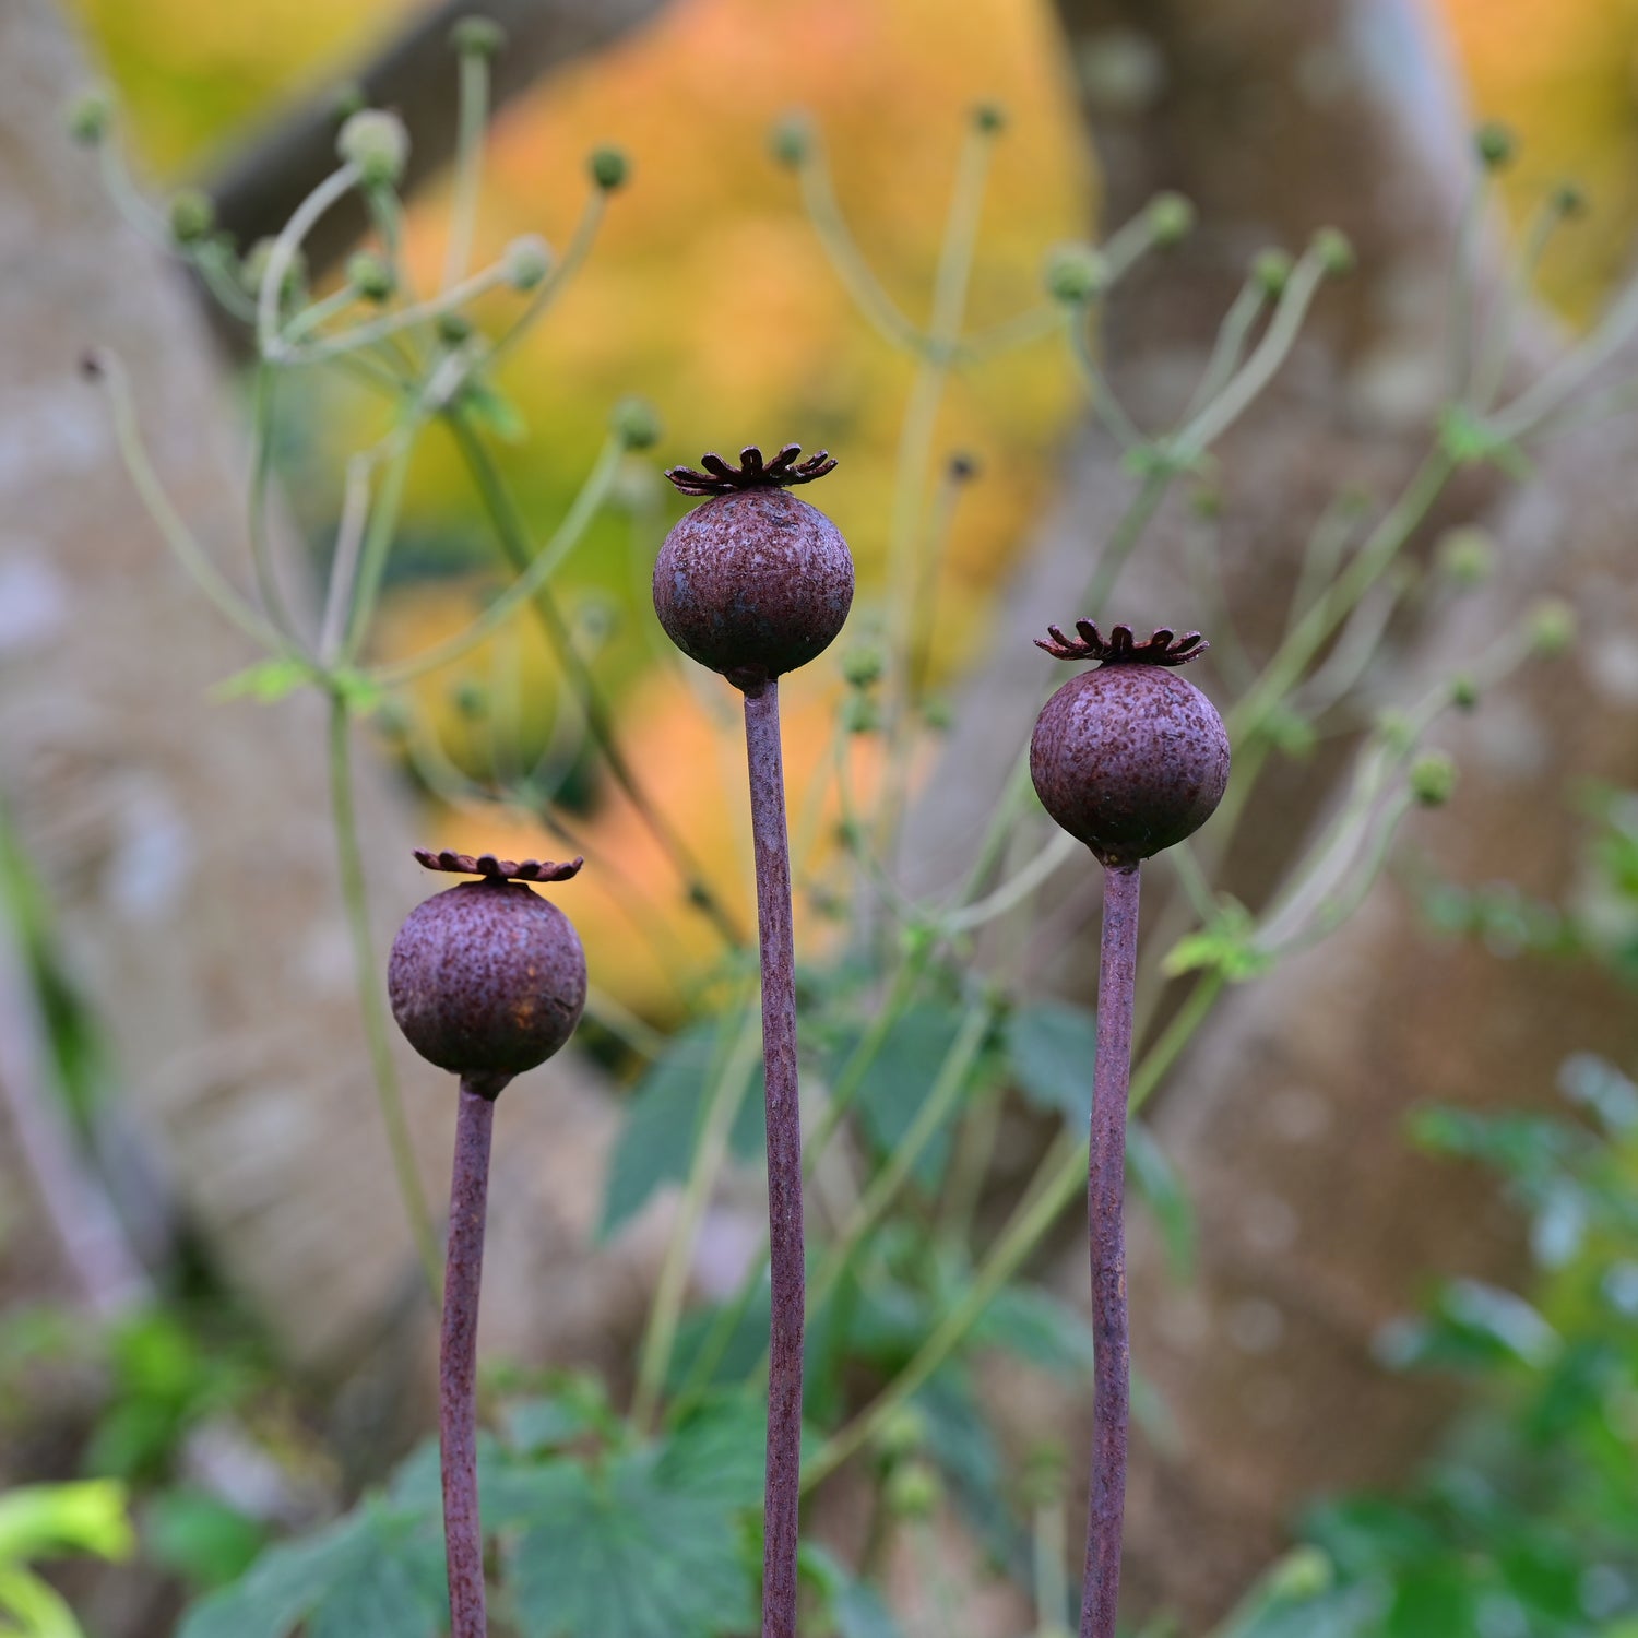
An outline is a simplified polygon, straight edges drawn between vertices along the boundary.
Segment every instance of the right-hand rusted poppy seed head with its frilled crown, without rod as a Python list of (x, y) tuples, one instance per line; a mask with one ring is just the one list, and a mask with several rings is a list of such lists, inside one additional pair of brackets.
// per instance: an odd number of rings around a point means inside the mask
[(1191, 837), (1228, 785), (1228, 734), (1215, 706), (1178, 675), (1206, 652), (1197, 631), (1165, 627), (1107, 640), (1076, 621), (1079, 640), (1048, 626), (1037, 642), (1058, 660), (1097, 660), (1047, 701), (1029, 770), (1042, 806), (1104, 865), (1137, 865)]

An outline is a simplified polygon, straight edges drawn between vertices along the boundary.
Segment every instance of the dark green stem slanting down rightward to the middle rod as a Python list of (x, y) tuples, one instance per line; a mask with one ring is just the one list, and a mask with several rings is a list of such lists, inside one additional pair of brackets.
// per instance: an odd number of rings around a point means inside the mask
[[(500, 472), (496, 470), (490, 452), (473, 431), (470, 416), (459, 403), (450, 405), (446, 410), (446, 421), (455, 437), (455, 447), (460, 450), (467, 473), (483, 503), (483, 509), (488, 514), (490, 527), (495, 531), (501, 552), (511, 562), (513, 568), (519, 573), (526, 573), (537, 554), (534, 552), (529, 532), (524, 527), (523, 518), (518, 514), (518, 508), (513, 503), (511, 495), (508, 493), (505, 483), (501, 483)], [(557, 600), (552, 596), (550, 586), (544, 581), (532, 586), (531, 600), (547, 642), (552, 645), (559, 663), (563, 667), (565, 673), (580, 693), (581, 709), (586, 714), (586, 727), (591, 731), (591, 737), (598, 742), (598, 750), (603, 753), (603, 762), (609, 770), (609, 776), (632, 804), (637, 817), (642, 819), (644, 826), (647, 826), (649, 834), (665, 850), (665, 855), (672, 862), (672, 868), (676, 871), (678, 880), (688, 893), (690, 903), (698, 906), (699, 911), (711, 921), (729, 948), (740, 948), (745, 939), (737, 922), (727, 912), (716, 893), (711, 891), (698, 860), (688, 850), (681, 835), (672, 829), (670, 822), (660, 812), (637, 778), (637, 773), (626, 758), (626, 753), (621, 750), (619, 740), (614, 734), (613, 714), (598, 693), (596, 678), (591, 675), (575, 649), (568, 626), (557, 606)]]

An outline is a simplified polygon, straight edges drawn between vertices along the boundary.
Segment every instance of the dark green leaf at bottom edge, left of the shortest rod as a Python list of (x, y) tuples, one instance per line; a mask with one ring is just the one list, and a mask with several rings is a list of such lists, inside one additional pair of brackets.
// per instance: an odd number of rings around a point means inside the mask
[(436, 1638), (447, 1623), (444, 1541), (434, 1522), (380, 1502), (264, 1553), (197, 1604), (177, 1638)]

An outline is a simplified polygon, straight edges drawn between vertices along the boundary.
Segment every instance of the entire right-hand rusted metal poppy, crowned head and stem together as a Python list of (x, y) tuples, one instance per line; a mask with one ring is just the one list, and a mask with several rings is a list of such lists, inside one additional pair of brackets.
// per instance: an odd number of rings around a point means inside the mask
[(1076, 621), (1037, 647), (1058, 660), (1096, 660), (1047, 701), (1030, 740), (1030, 776), (1048, 814), (1104, 867), (1097, 966), (1097, 1060), (1086, 1173), (1093, 1263), (1093, 1476), (1086, 1520), (1081, 1638), (1114, 1638), (1125, 1514), (1130, 1348), (1125, 1289), (1125, 1127), (1132, 1078), (1138, 875), (1212, 816), (1228, 785), (1228, 734), (1212, 703), (1178, 667), (1209, 647), (1197, 631), (1137, 642)]

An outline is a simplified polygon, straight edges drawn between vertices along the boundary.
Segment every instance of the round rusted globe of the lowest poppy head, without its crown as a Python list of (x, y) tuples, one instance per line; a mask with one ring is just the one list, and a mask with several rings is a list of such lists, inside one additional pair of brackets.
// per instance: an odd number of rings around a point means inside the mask
[(575, 1032), (586, 955), (568, 917), (521, 881), (464, 881), (410, 912), (387, 993), (423, 1058), (452, 1075), (523, 1075)]

